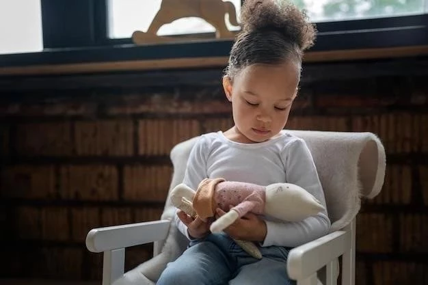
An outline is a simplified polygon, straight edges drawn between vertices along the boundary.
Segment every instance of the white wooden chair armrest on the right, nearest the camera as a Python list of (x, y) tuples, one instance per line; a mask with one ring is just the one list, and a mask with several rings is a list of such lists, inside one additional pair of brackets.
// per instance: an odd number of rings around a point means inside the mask
[(293, 280), (309, 277), (328, 262), (351, 249), (351, 232), (338, 230), (291, 249), (287, 272)]

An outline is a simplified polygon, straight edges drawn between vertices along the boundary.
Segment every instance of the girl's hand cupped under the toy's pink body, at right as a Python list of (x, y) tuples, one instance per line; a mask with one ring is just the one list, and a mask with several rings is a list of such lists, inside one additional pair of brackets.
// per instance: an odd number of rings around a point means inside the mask
[[(215, 212), (217, 213), (215, 216), (217, 219), (226, 214), (221, 208), (217, 208)], [(267, 229), (263, 219), (260, 219), (253, 213), (248, 213), (224, 229), (224, 232), (232, 239), (263, 242), (265, 241)]]

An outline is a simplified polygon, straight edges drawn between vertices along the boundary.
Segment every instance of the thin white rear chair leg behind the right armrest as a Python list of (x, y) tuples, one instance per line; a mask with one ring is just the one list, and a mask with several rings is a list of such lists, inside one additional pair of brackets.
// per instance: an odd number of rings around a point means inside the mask
[(355, 285), (356, 219), (345, 228), (351, 232), (351, 249), (342, 256), (342, 285)]

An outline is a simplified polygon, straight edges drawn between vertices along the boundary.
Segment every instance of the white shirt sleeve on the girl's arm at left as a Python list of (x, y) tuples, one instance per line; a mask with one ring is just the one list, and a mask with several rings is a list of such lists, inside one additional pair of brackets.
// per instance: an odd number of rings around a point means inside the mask
[[(189, 159), (187, 160), (185, 178), (183, 179), (183, 183), (191, 187), (191, 189), (196, 190), (198, 188), (199, 183), (204, 178), (207, 178), (206, 154), (208, 154), (208, 151), (208, 141), (206, 137), (202, 135), (191, 149)], [(184, 234), (187, 239), (191, 240), (189, 232), (187, 232), (187, 226), (183, 223), (183, 221), (178, 219), (177, 215), (174, 215), (173, 219), (176, 222), (178, 230), (180, 230), (180, 232)]]

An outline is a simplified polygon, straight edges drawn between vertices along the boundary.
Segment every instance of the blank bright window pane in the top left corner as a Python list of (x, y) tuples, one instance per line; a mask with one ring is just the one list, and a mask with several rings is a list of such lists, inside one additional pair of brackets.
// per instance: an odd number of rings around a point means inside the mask
[(0, 1), (0, 54), (42, 51), (40, 0)]

